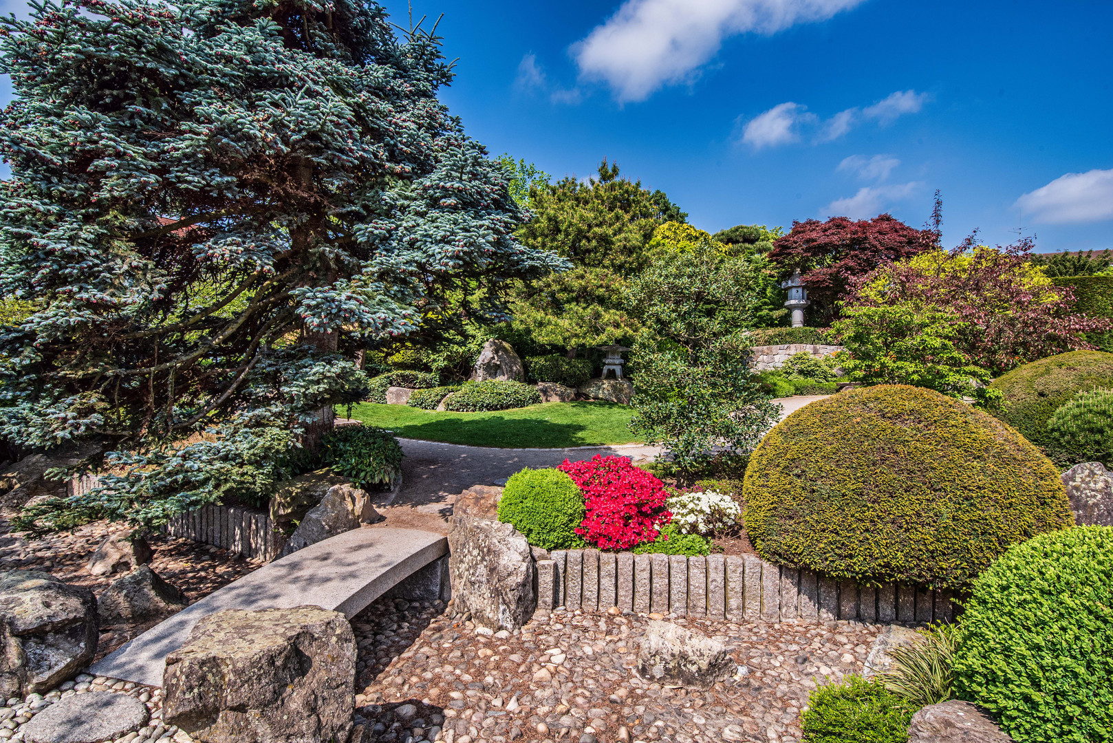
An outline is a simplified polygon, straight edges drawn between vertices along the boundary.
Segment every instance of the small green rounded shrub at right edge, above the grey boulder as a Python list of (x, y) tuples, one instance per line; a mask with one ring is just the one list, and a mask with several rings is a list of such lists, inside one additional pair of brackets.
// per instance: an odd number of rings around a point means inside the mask
[(1056, 459), (1113, 468), (1113, 390), (1080, 392), (1052, 414), (1047, 436)]

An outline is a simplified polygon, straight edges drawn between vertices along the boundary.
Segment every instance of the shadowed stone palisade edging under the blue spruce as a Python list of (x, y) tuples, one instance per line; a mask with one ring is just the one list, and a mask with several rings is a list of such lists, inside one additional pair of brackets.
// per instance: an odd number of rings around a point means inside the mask
[(285, 535), (274, 528), (269, 514), (235, 506), (204, 506), (180, 514), (167, 522), (166, 532), (265, 563), (282, 555), (286, 546)]

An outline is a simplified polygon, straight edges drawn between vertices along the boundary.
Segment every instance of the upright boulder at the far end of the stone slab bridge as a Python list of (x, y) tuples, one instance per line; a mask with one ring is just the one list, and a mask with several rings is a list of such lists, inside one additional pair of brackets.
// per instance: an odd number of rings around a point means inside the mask
[(449, 519), (453, 599), (490, 629), (521, 627), (538, 606), (530, 542), (509, 524), (470, 516)]

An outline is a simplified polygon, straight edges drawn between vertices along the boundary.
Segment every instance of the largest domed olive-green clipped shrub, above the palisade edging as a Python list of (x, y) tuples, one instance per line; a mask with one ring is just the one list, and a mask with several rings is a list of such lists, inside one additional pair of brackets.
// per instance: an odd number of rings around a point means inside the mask
[(933, 390), (817, 400), (754, 450), (745, 522), (766, 559), (864, 581), (968, 585), (1073, 516), (1058, 469), (1015, 430)]

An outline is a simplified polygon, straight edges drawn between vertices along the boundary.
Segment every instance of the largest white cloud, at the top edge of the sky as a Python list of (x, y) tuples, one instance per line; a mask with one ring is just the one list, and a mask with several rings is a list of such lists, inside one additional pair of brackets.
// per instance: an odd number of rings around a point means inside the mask
[(620, 101), (644, 100), (668, 82), (690, 79), (722, 39), (772, 35), (827, 20), (864, 0), (627, 0), (572, 45), (584, 79), (602, 80)]

